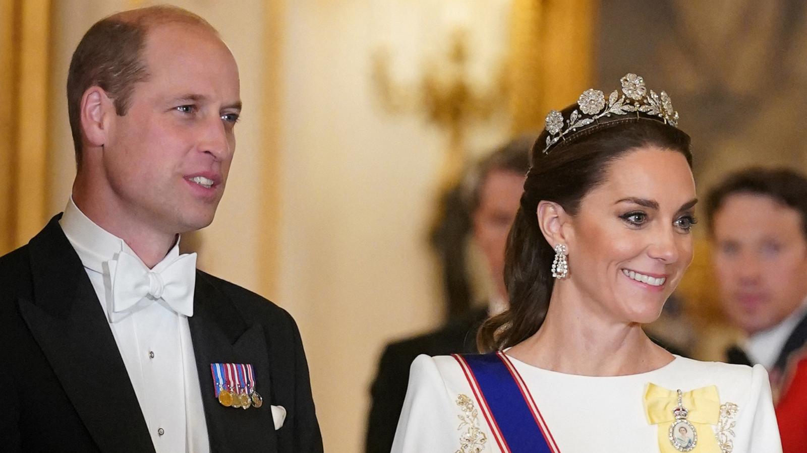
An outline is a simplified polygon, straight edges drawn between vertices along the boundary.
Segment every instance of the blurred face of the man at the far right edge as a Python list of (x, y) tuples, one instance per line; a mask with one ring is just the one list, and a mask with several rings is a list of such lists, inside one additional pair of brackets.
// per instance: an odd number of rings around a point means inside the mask
[(749, 335), (776, 326), (807, 296), (807, 240), (796, 210), (736, 193), (714, 214), (714, 265), (725, 314)]

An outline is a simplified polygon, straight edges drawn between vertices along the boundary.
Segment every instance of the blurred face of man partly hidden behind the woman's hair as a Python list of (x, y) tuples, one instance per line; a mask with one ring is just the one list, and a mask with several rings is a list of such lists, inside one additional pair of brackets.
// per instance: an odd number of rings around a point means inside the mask
[(504, 247), (516, 218), (524, 175), (492, 170), (482, 183), (479, 206), (473, 214), (474, 238), (487, 260), (496, 289), (504, 297)]

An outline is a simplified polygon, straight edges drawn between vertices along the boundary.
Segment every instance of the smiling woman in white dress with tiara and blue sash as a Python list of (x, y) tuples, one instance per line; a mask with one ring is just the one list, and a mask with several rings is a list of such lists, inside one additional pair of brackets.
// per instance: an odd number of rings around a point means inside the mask
[[(546, 117), (485, 355), (420, 355), (395, 453), (781, 451), (762, 366), (645, 335), (692, 261), (689, 137), (642, 77)], [(751, 214), (751, 213), (750, 213)], [(753, 215), (753, 214), (751, 214)]]

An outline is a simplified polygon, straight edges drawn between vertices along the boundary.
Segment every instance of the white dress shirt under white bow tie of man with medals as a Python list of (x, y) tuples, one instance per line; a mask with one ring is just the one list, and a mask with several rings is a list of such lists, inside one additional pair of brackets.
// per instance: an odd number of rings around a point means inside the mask
[[(155, 450), (207, 453), (210, 445), (188, 318), (158, 299), (111, 322), (112, 289), (107, 261), (116, 260), (120, 253), (136, 256), (135, 252), (123, 239), (87, 218), (72, 197), (59, 223), (81, 258), (107, 315)], [(178, 256), (179, 240), (152, 268), (153, 272), (161, 272)], [(192, 287), (194, 282), (189, 285)], [(213, 389), (207, 390), (212, 395)]]

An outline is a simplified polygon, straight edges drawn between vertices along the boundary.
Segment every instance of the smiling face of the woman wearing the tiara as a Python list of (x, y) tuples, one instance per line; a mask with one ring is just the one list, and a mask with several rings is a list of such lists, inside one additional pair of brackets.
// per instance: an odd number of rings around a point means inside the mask
[(627, 152), (563, 226), (568, 283), (613, 321), (653, 322), (692, 262), (695, 202), (683, 154)]

